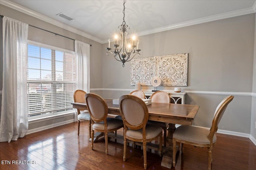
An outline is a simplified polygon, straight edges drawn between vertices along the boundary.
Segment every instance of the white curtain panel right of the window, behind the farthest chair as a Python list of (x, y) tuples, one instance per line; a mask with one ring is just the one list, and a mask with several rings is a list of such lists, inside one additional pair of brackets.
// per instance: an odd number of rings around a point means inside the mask
[[(90, 45), (75, 41), (76, 89), (90, 93)], [(77, 114), (75, 115), (77, 121)]]

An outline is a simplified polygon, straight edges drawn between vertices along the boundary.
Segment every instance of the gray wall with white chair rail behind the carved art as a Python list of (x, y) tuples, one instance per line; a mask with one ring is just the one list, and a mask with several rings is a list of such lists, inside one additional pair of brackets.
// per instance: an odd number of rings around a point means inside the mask
[[(229, 94), (235, 98), (228, 106), (219, 129), (250, 134), (255, 14), (201, 23), (139, 37), (142, 57), (188, 53), (188, 92), (186, 104), (200, 106), (193, 125), (210, 127), (219, 102)], [(134, 89), (130, 86), (130, 63), (117, 62), (106, 56), (102, 59), (102, 92), (105, 98), (119, 98), (128, 91), (109, 91), (108, 88)], [(138, 58), (138, 57), (137, 57)], [(154, 89), (142, 86), (142, 90)], [(158, 90), (173, 90), (162, 86)], [(207, 91), (214, 94), (196, 94)], [(224, 95), (220, 95), (221, 92)], [(241, 92), (242, 96), (236, 95)], [(244, 95), (245, 94), (245, 95)]]

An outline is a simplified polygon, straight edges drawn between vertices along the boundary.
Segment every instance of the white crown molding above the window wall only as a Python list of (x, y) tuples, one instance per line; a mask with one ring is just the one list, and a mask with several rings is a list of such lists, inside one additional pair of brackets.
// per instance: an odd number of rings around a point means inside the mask
[(19, 12), (22, 12), (22, 13), (24, 13), (24, 14), (30, 15), (30, 16), (32, 16), (32, 17), (38, 18), (39, 20), (48, 22), (48, 23), (50, 23), (50, 24), (52, 24), (52, 25), (56, 25), (56, 26), (58, 26), (58, 27), (61, 27), (61, 28), (63, 28), (63, 29), (66, 29), (66, 30), (68, 30), (68, 31), (71, 31), (71, 32), (73, 32), (73, 33), (76, 33), (76, 34), (78, 34), (78, 35), (82, 35), (83, 37), (86, 37), (86, 38), (88, 38), (88, 39), (92, 39), (92, 40), (94, 40), (94, 41), (97, 41), (98, 43), (104, 43), (101, 39), (98, 39), (97, 37), (94, 37), (94, 36), (92, 36), (92, 35), (90, 35), (90, 34), (88, 34), (88, 33), (85, 33), (85, 32), (83, 32), (83, 31), (80, 31), (79, 29), (76, 29), (76, 28), (71, 27), (71, 26), (69, 26), (69, 25), (66, 25), (66, 24), (64, 24), (64, 23), (62, 23), (62, 22), (60, 22), (60, 21), (54, 20), (54, 19), (52, 19), (52, 18), (50, 18), (50, 17), (44, 16), (44, 15), (38, 13), (38, 12), (35, 12), (35, 11), (33, 11), (33, 10), (30, 10), (30, 9), (28, 9), (28, 8), (25, 8), (25, 7), (23, 7), (23, 6), (20, 6), (20, 5), (18, 5), (18, 4), (15, 4), (15, 3), (13, 3), (13, 2), (11, 2), (11, 1), (9, 1), (9, 0), (1, 0), (1, 1), (0, 1), (0, 4), (2, 4), (2, 5), (4, 5), (4, 6), (7, 6), (7, 7), (9, 7), (9, 8), (12, 8), (12, 9), (14, 9), (14, 10), (17, 10), (17, 11), (19, 11)]

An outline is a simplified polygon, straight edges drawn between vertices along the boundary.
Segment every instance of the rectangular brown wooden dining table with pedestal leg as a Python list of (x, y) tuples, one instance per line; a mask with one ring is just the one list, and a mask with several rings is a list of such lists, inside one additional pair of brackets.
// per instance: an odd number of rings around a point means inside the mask
[[(121, 115), (119, 105), (113, 104), (113, 99), (104, 99), (108, 105), (108, 114)], [(87, 109), (86, 102), (73, 102), (71, 103), (73, 108)], [(169, 144), (168, 150), (165, 152), (161, 166), (166, 168), (172, 168), (172, 134), (178, 125), (191, 126), (199, 106), (188, 104), (166, 104), (166, 103), (154, 103), (147, 105), (149, 120), (169, 123), (168, 135), (166, 141)], [(176, 149), (178, 150), (178, 149)]]

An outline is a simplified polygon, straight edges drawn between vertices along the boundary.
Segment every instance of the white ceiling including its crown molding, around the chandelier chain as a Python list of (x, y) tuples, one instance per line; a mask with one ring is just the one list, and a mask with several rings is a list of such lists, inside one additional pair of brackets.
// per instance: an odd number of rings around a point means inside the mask
[[(129, 34), (140, 36), (254, 13), (255, 1), (127, 0), (125, 21), (130, 27)], [(123, 20), (123, 0), (1, 0), (0, 3), (100, 43), (118, 33)], [(59, 13), (73, 20), (61, 18)]]

